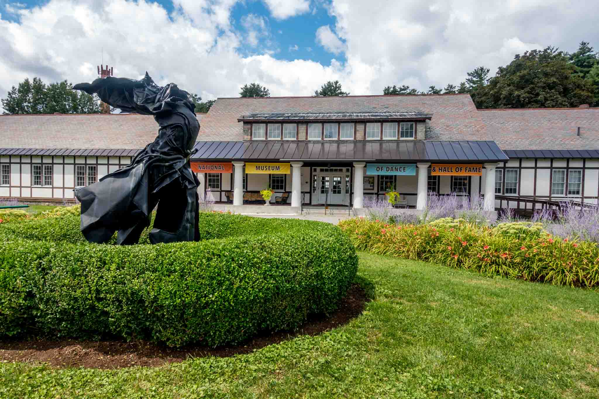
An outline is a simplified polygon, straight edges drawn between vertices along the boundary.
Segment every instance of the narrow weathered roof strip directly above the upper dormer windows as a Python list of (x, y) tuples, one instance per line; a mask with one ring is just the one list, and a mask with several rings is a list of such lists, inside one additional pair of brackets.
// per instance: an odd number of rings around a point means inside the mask
[(238, 122), (251, 121), (325, 121), (325, 120), (426, 120), (428, 112), (279, 112), (241, 115)]

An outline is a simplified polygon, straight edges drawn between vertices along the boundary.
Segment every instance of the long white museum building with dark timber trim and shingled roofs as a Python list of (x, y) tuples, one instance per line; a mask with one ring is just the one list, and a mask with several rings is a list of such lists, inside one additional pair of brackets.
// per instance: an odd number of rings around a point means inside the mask
[[(470, 95), (219, 98), (192, 169), (201, 194), (234, 206), (362, 208), (401, 194), (481, 196), (492, 208), (597, 204), (599, 108), (476, 109)], [(0, 197), (67, 201), (156, 136), (151, 116), (0, 116)]]

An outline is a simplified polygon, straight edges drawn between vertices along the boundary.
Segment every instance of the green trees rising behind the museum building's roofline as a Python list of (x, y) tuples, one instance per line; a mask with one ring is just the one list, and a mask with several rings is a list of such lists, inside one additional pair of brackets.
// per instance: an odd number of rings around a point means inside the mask
[[(580, 42), (578, 50), (567, 53), (549, 46), (543, 50), (516, 54), (512, 62), (500, 66), (489, 77), (490, 69), (478, 66), (467, 72), (457, 86), (448, 83), (443, 89), (429, 86), (426, 91), (413, 87), (386, 86), (383, 95), (435, 95), (468, 93), (477, 108), (555, 108), (581, 104), (599, 106), (599, 53)], [(270, 90), (259, 83), (240, 88), (240, 97), (270, 97)], [(314, 96), (349, 96), (338, 80), (328, 81)], [(208, 112), (215, 100), (202, 101), (190, 95), (196, 112)], [(26, 78), (13, 86), (2, 99), (4, 114), (95, 114), (101, 112), (98, 96), (72, 90), (68, 81), (46, 85), (40, 78)]]

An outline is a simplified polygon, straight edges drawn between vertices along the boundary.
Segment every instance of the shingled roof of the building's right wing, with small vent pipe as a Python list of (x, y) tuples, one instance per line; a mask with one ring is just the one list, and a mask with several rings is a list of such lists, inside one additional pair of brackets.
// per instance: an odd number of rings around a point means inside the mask
[(599, 150), (599, 108), (480, 109), (479, 113), (489, 139), (502, 150)]

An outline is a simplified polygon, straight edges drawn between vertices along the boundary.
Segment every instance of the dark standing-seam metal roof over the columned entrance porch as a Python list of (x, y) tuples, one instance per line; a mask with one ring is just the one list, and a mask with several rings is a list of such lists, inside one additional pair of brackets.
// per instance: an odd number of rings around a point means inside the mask
[(202, 161), (500, 162), (494, 141), (200, 141)]

